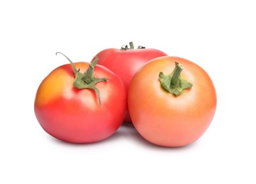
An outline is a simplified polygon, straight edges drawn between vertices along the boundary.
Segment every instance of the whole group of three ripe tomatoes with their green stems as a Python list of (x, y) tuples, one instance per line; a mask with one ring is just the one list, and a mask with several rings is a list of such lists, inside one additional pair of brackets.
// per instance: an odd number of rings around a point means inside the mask
[(66, 59), (35, 95), (35, 116), (52, 137), (98, 142), (128, 122), (149, 142), (174, 147), (196, 141), (211, 124), (216, 90), (194, 62), (132, 42), (90, 63)]

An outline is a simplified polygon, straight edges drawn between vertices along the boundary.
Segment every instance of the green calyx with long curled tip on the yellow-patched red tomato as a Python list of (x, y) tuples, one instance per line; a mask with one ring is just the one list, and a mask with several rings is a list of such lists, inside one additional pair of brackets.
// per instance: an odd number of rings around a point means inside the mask
[[(57, 54), (62, 54), (62, 52), (56, 52), (56, 55)], [(65, 54), (62, 54), (62, 55), (67, 58), (67, 60), (70, 62), (70, 64), (72, 65), (72, 68), (74, 70), (74, 83), (73, 83), (73, 85), (76, 88), (79, 88), (79, 89), (82, 89), (82, 88), (94, 89), (94, 91), (96, 91), (96, 95), (99, 99), (99, 104), (101, 105), (101, 96), (100, 96), (100, 93), (99, 93), (99, 89), (96, 88), (95, 85), (98, 82), (108, 81), (108, 79), (106, 79), (105, 77), (104, 78), (94, 77), (94, 67), (97, 64), (99, 57), (96, 57), (94, 59), (94, 61), (89, 64), (89, 67), (88, 67), (87, 71), (85, 71), (84, 74), (82, 74), (80, 72), (80, 69), (77, 69), (74, 66), (74, 63), (67, 56), (65, 56)]]

